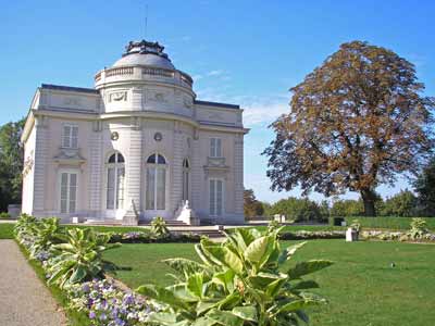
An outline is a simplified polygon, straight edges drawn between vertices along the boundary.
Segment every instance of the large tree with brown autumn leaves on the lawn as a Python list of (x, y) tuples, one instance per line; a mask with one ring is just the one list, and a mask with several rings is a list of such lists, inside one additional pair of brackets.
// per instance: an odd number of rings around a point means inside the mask
[(295, 86), (290, 113), (264, 151), (273, 190), (358, 191), (375, 215), (375, 189), (417, 173), (433, 143), (431, 109), (412, 63), (352, 41)]

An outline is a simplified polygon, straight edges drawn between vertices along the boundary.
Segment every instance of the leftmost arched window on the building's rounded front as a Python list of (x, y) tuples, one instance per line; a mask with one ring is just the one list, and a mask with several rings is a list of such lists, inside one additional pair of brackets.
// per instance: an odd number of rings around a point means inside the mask
[(121, 153), (112, 154), (108, 160), (107, 209), (122, 210), (124, 208), (125, 165)]

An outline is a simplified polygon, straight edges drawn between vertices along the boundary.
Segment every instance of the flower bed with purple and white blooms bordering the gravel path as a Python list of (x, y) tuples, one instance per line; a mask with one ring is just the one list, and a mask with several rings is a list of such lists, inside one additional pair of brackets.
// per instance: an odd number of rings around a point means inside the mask
[[(50, 238), (45, 238), (45, 241), (41, 241), (41, 231), (38, 231), (38, 229), (44, 230), (47, 228), (47, 225), (53, 227), (55, 230), (53, 230), (53, 235)], [(87, 325), (147, 325), (146, 321), (149, 314), (158, 310), (158, 308), (151, 305), (146, 298), (135, 294), (130, 290), (122, 289), (113, 280), (105, 279), (103, 273), (96, 273), (99, 278), (94, 278), (92, 280), (76, 278), (75, 274), (86, 271), (86, 263), (79, 263), (82, 266), (78, 266), (71, 277), (65, 278), (67, 281), (59, 283), (62, 278), (57, 276), (57, 273), (59, 274), (57, 266), (64, 263), (63, 258), (65, 256), (65, 253), (59, 253), (59, 250), (65, 249), (67, 252), (73, 252), (73, 250), (71, 243), (62, 242), (62, 240), (55, 241), (57, 237), (63, 238), (65, 236), (57, 234), (55, 225), (55, 220), (51, 220), (51, 223), (49, 223), (47, 221), (39, 222), (30, 217), (25, 217), (15, 227), (15, 238), (26, 254), (44, 269), (48, 284), (54, 280), (52, 286), (62, 291), (66, 298), (66, 309), (85, 313), (89, 318)], [(84, 237), (87, 234), (84, 230), (73, 229), (69, 230), (69, 233), (70, 236), (77, 236), (78, 240), (86, 240)], [(96, 241), (96, 246), (101, 248), (99, 244), (104, 242), (104, 237), (109, 239), (108, 235), (91, 234), (89, 241)], [(83, 243), (86, 246), (92, 244), (89, 241)], [(86, 250), (86, 246), (80, 247), (80, 250)], [(89, 268), (99, 266), (98, 264), (91, 264), (91, 262), (89, 264)], [(63, 267), (63, 265), (61, 266)]]

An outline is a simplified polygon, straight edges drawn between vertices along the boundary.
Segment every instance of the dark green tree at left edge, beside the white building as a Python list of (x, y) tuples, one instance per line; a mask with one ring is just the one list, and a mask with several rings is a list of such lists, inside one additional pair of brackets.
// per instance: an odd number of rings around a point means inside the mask
[(21, 203), (23, 147), (20, 137), (25, 120), (0, 127), (0, 211), (8, 204)]

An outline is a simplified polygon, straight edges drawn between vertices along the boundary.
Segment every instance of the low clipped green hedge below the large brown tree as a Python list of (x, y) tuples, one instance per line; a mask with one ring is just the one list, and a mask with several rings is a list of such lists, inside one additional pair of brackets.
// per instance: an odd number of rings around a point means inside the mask
[[(330, 225), (334, 225), (334, 218), (335, 217), (330, 217)], [(349, 216), (341, 218), (345, 218), (347, 225), (350, 225), (353, 220), (358, 220), (363, 228), (409, 229), (413, 217)], [(422, 218), (426, 221), (428, 229), (435, 230), (435, 217)]]

